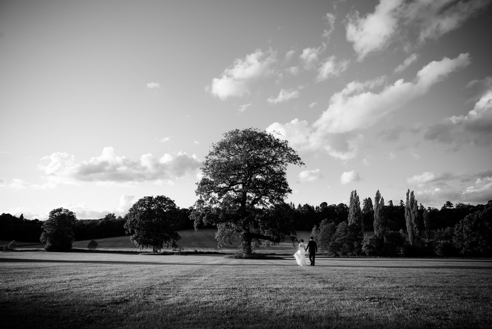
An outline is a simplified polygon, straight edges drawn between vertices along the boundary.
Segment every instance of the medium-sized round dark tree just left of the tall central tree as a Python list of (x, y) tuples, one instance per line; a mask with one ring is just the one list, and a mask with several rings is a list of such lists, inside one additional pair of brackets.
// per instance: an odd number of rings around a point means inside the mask
[(173, 200), (165, 196), (142, 197), (135, 202), (128, 214), (124, 228), (132, 234), (130, 241), (140, 249), (153, 247), (156, 253), (169, 244), (176, 248), (181, 236), (176, 231), (178, 208)]

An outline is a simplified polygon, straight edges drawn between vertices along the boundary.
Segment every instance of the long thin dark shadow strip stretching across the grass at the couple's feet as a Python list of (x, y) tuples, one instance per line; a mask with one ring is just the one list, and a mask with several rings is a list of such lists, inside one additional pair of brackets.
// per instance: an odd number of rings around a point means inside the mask
[[(178, 262), (130, 262), (130, 261), (78, 261), (78, 260), (41, 260), (41, 259), (22, 259), (22, 258), (0, 258), (0, 263), (89, 263), (89, 264), (136, 264), (136, 265), (197, 265), (197, 266), (298, 266), (293, 260), (283, 259), (292, 261), (288, 264), (275, 264), (275, 263), (255, 263), (254, 260), (244, 260), (249, 261), (248, 263), (178, 263)], [(252, 261), (252, 262), (251, 262)], [(492, 270), (492, 262), (487, 262), (484, 266), (454, 266), (454, 265), (369, 265), (369, 264), (322, 264), (316, 265), (315, 267), (355, 267), (355, 268), (462, 268), (462, 269), (487, 269)]]

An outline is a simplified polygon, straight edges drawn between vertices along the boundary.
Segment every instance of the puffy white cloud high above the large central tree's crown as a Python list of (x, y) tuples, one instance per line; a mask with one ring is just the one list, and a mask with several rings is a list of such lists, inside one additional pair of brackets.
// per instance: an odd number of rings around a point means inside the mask
[(212, 80), (208, 86), (212, 95), (225, 100), (228, 97), (241, 97), (249, 93), (249, 85), (256, 79), (272, 73), (270, 66), (275, 63), (277, 53), (269, 50), (262, 52), (257, 49), (244, 59), (236, 59), (232, 67), (228, 67), (220, 78)]

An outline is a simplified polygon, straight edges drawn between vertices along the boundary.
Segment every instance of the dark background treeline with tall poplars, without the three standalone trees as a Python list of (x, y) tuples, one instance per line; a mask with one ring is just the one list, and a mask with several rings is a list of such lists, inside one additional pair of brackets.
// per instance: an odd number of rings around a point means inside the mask
[[(476, 206), (447, 201), (437, 209), (417, 203), (413, 191), (407, 192), (405, 202), (400, 200), (396, 205), (392, 200), (385, 205), (379, 191), (374, 203), (370, 197), (360, 202), (356, 191), (352, 191), (350, 206), (327, 202), (297, 207), (291, 202), (285, 206), (287, 212), (282, 216), (292, 220), (295, 230), (311, 231), (319, 239), (321, 252), (330, 256), (483, 257), (492, 254), (492, 200)], [(190, 219), (193, 208), (177, 207), (177, 210), (176, 230), (193, 229), (195, 223)], [(126, 216), (110, 213), (101, 219), (77, 220), (73, 215), (70, 225), (75, 240), (122, 236), (127, 231)], [(27, 220), (22, 214), (16, 217), (3, 213), (0, 239), (12, 240), (12, 245), (15, 241), (40, 242), (41, 233), (48, 230), (45, 224), (37, 219)], [(202, 224), (199, 228), (215, 227)]]

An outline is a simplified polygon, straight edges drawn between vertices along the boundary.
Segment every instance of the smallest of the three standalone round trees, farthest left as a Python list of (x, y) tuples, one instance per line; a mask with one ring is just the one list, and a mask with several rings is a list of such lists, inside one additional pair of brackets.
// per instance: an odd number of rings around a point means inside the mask
[(73, 226), (76, 221), (75, 213), (68, 209), (57, 208), (50, 211), (39, 238), (41, 242), (46, 242), (44, 249), (46, 251), (71, 249), (75, 240)]

